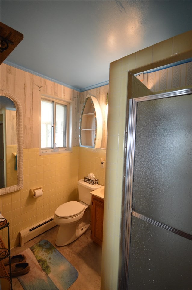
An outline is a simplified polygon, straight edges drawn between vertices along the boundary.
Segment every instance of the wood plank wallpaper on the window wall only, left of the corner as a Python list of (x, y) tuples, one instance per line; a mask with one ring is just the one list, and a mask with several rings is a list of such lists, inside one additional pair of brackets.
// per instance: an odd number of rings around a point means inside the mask
[(79, 114), (76, 113), (79, 92), (2, 63), (0, 88), (15, 95), (23, 108), (23, 148), (39, 147), (39, 87), (41, 92), (74, 100), (72, 144), (77, 146)]

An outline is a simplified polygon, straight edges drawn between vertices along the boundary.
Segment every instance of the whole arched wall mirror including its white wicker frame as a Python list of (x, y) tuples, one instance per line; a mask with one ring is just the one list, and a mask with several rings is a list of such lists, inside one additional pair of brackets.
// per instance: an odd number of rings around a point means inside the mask
[(0, 195), (23, 188), (23, 119), (20, 101), (0, 90)]

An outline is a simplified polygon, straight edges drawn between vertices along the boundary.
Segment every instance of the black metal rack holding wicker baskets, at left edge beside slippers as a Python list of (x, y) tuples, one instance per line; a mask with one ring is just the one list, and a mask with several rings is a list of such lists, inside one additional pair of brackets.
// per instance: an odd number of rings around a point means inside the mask
[[(5, 246), (0, 236), (0, 289), (12, 290), (12, 277), (11, 277), (11, 256), (10, 256), (10, 240), (9, 240), (9, 223), (0, 214), (0, 230), (7, 228), (8, 231), (8, 248)], [(9, 258), (10, 275), (5, 269), (3, 259)]]

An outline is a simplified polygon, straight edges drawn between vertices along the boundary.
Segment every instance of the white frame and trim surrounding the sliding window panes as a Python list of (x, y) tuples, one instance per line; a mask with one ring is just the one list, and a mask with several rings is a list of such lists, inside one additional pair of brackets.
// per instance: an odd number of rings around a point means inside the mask
[[(48, 101), (56, 101), (57, 103), (67, 106), (67, 132), (66, 132), (66, 147), (59, 147), (58, 151), (53, 148), (41, 148), (41, 101), (42, 99)], [(57, 96), (39, 92), (39, 155), (58, 154), (72, 152), (72, 101), (66, 100)]]

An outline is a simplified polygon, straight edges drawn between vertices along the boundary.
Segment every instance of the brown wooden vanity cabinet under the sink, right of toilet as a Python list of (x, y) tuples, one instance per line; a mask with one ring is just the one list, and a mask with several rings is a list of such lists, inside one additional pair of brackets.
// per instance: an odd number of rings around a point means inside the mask
[(91, 240), (102, 246), (104, 200), (92, 195)]

